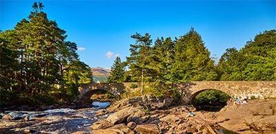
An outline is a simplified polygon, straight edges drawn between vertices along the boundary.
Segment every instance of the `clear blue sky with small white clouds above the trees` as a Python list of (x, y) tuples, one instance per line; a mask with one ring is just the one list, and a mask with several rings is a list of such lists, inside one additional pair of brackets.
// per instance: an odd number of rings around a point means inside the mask
[[(0, 30), (27, 18), (34, 1), (0, 0)], [(276, 28), (275, 1), (41, 1), (48, 18), (66, 30), (68, 41), (90, 67), (112, 66), (115, 56), (126, 60), (130, 36), (148, 32), (175, 38), (190, 27), (201, 34), (212, 57), (228, 47), (242, 48), (264, 30)]]

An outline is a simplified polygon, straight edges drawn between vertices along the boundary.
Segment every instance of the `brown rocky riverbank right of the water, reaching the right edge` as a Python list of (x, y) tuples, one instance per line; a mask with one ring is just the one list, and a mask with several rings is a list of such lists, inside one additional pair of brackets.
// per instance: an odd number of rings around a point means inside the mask
[[(146, 100), (146, 101), (145, 101)], [(228, 104), (218, 112), (192, 106), (168, 107), (152, 96), (112, 104), (108, 118), (90, 126), (92, 133), (275, 133), (276, 100)]]

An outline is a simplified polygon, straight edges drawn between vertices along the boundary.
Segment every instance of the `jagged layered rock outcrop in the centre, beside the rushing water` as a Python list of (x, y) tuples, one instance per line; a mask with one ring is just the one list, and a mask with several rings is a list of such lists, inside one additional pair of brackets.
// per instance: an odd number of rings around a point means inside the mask
[(108, 118), (90, 126), (92, 133), (218, 133), (216, 124), (189, 105), (170, 107), (171, 100), (141, 96), (108, 107)]

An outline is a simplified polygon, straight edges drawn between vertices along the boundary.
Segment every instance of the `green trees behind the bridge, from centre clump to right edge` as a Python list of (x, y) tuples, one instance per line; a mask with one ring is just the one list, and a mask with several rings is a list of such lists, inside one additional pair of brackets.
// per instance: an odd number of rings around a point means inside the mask
[[(257, 34), (244, 48), (228, 48), (218, 64), (210, 58), (200, 34), (192, 27), (179, 38), (157, 38), (150, 34), (131, 36), (130, 56), (124, 81), (150, 82), (151, 93), (175, 96), (174, 82), (197, 80), (276, 80), (276, 30)], [(142, 86), (143, 87), (143, 86)]]

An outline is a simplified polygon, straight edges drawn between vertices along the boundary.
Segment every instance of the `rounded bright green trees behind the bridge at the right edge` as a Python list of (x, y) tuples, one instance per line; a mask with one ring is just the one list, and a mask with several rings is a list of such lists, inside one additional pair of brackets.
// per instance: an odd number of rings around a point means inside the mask
[(276, 30), (265, 31), (244, 48), (226, 49), (219, 60), (220, 80), (276, 80)]

